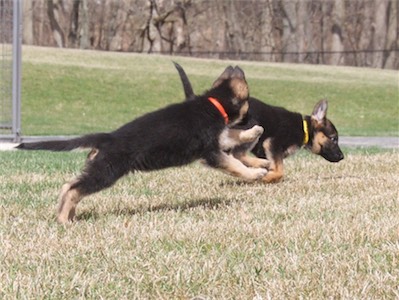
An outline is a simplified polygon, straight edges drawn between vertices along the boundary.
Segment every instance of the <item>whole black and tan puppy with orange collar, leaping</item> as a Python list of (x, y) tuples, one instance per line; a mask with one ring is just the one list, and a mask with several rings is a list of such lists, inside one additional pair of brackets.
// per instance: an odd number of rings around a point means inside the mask
[[(247, 168), (222, 150), (236, 145), (225, 132), (248, 111), (244, 72), (239, 67), (227, 68), (211, 90), (195, 99), (148, 113), (111, 133), (22, 143), (17, 148), (92, 149), (82, 174), (62, 187), (57, 217), (60, 223), (74, 218), (76, 206), (84, 196), (110, 187), (120, 177), (136, 170), (159, 170), (203, 159), (209, 166), (245, 180), (262, 178), (267, 170)], [(247, 131), (244, 140), (258, 138), (262, 133), (258, 129)]]

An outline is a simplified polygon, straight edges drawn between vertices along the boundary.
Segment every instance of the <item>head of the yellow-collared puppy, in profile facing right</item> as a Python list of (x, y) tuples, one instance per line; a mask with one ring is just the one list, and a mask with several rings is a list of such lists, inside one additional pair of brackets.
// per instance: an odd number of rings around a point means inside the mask
[(319, 101), (308, 118), (310, 136), (306, 147), (330, 162), (338, 162), (344, 155), (338, 146), (338, 131), (326, 117), (327, 108), (327, 100)]

